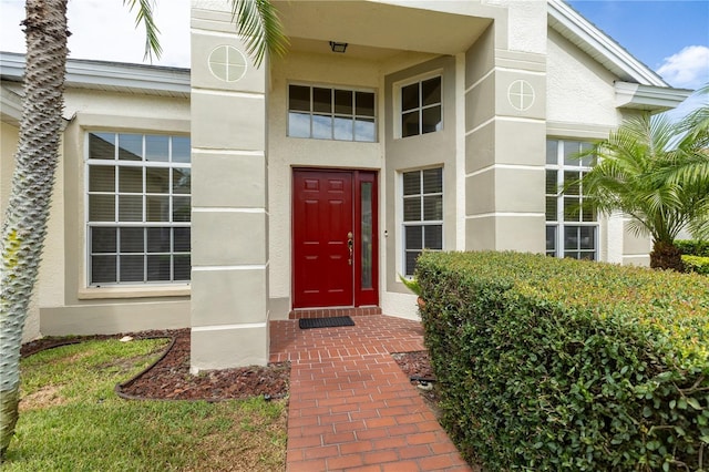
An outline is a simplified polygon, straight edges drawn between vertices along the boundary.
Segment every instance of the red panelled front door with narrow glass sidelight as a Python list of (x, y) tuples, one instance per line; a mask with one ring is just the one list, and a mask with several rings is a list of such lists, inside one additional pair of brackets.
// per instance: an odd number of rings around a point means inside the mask
[(294, 171), (294, 308), (377, 305), (376, 174)]

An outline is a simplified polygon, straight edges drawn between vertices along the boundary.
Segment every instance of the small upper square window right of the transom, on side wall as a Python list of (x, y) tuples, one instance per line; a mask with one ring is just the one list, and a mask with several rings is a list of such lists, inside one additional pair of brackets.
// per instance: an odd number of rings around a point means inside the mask
[(441, 76), (401, 88), (401, 137), (433, 133), (443, 127)]

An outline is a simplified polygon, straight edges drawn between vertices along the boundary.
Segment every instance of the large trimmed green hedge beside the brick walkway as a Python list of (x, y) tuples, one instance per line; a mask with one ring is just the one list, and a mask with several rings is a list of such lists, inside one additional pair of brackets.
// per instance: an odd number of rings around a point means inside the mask
[(486, 470), (709, 463), (709, 285), (511, 253), (424, 253), (442, 422)]

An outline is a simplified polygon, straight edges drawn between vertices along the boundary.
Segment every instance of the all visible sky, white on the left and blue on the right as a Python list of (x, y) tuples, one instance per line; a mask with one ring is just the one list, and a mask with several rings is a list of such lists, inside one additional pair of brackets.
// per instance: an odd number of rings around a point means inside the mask
[[(670, 85), (709, 82), (709, 0), (567, 2)], [(24, 0), (0, 0), (0, 50), (23, 52), (23, 7)], [(142, 62), (144, 37), (133, 18), (122, 0), (70, 0), (70, 55)], [(189, 66), (189, 0), (157, 0), (156, 21), (164, 48), (156, 63)]]

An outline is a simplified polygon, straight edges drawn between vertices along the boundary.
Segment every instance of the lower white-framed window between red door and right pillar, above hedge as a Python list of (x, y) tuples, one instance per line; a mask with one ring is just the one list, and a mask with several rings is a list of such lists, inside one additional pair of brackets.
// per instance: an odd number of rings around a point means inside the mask
[(443, 249), (443, 168), (402, 173), (403, 270), (412, 276), (423, 249)]

